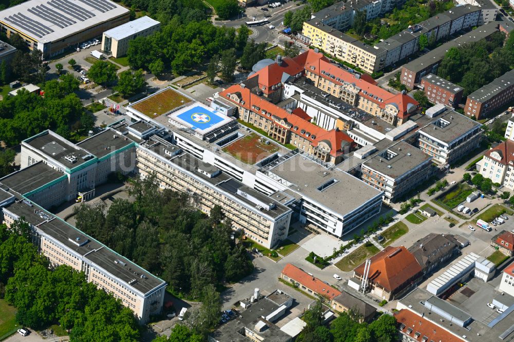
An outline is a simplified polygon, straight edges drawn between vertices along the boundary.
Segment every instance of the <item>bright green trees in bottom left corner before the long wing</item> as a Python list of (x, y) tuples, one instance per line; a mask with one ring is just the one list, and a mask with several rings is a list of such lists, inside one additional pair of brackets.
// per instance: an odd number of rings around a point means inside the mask
[(31, 242), (28, 223), (0, 225), (0, 295), (16, 307), (16, 322), (33, 329), (60, 324), (70, 341), (137, 341), (133, 312), (86, 281), (85, 274), (52, 268)]

